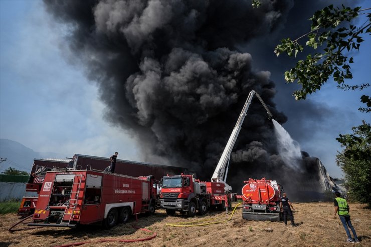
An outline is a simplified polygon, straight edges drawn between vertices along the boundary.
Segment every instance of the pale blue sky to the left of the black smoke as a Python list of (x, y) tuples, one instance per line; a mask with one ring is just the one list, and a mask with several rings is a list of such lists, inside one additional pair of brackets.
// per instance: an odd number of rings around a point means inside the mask
[[(39, 152), (137, 160), (130, 138), (103, 121), (97, 89), (62, 58), (40, 1), (0, 1), (0, 138)], [(35, 157), (37, 158), (37, 157)]]

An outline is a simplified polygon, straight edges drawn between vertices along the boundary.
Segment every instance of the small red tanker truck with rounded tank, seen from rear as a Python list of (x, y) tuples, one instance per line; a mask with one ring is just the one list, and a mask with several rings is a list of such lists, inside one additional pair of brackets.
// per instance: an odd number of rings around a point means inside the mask
[(242, 187), (242, 217), (250, 220), (281, 221), (282, 186), (274, 180), (251, 179)]

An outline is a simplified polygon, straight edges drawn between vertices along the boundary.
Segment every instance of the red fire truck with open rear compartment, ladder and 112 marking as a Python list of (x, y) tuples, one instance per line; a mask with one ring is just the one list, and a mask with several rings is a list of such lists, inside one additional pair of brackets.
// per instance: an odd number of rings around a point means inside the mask
[(131, 214), (154, 212), (153, 176), (131, 177), (98, 170), (48, 171), (33, 215), (34, 226), (76, 227), (102, 221), (106, 228)]

